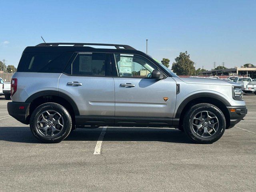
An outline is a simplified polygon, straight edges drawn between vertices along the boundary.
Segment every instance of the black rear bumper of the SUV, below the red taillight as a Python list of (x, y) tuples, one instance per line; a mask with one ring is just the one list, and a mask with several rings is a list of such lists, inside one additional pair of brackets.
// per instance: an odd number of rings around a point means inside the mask
[(26, 102), (8, 102), (7, 110), (10, 116), (14, 117), (19, 122), (29, 124), (29, 106)]

